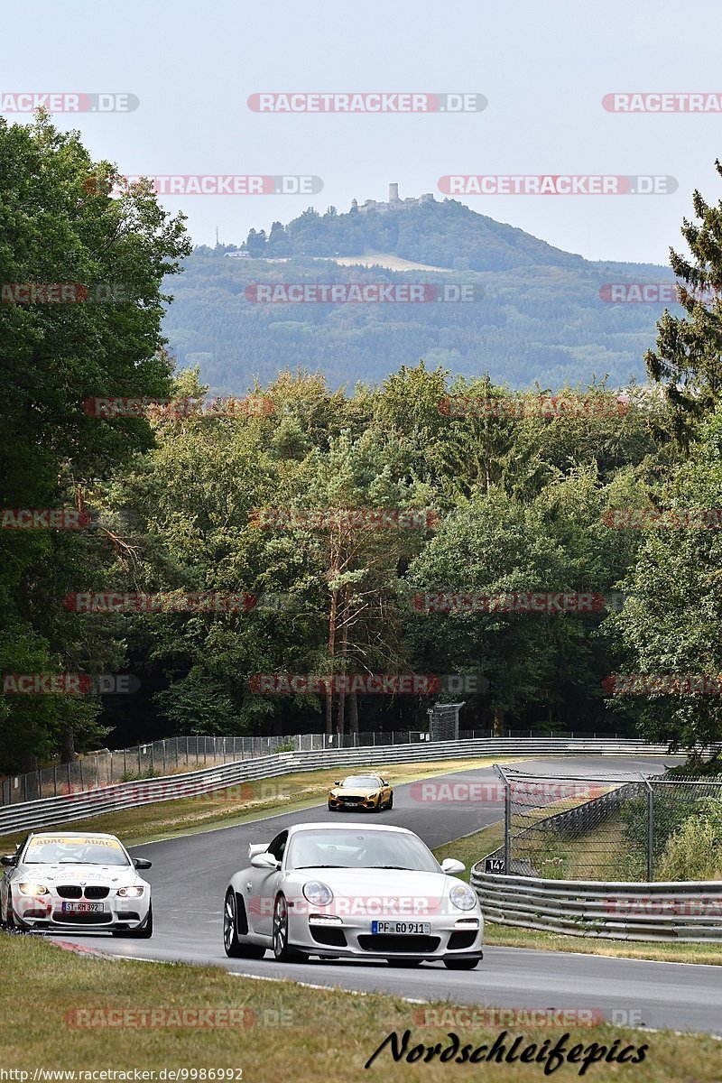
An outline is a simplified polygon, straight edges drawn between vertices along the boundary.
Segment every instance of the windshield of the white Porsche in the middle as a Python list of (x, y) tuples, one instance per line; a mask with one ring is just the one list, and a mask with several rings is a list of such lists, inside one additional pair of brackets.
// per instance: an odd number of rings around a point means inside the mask
[(437, 873), (431, 850), (416, 835), (397, 831), (317, 827), (291, 836), (288, 869), (405, 869)]

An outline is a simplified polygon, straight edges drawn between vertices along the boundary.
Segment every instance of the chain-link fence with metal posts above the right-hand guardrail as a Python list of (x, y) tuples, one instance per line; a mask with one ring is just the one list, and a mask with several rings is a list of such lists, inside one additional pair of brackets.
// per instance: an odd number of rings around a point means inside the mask
[(489, 871), (544, 879), (722, 879), (722, 779), (497, 770), (504, 844), (489, 854)]

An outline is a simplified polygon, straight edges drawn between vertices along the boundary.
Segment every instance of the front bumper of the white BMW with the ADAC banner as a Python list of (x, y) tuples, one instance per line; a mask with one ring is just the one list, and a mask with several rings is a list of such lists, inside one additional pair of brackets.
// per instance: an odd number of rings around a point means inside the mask
[[(65, 932), (70, 929), (137, 929), (148, 916), (150, 897), (147, 891), (139, 897), (122, 898), (109, 895), (94, 904), (102, 910), (84, 912), (68, 912), (63, 910), (63, 903), (70, 900), (62, 899), (54, 892), (47, 896), (23, 896), (13, 892), (12, 909), (15, 924), (25, 929), (58, 929)], [(91, 902), (93, 900), (71, 900)]]

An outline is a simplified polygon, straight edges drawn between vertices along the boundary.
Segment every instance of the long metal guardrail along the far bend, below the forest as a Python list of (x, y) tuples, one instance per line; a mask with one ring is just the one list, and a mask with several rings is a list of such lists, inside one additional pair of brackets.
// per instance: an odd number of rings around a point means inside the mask
[(236, 783), (277, 778), (294, 771), (314, 771), (328, 767), (364, 764), (380, 768), (384, 764), (426, 762), (436, 759), (463, 759), (480, 756), (578, 756), (668, 755), (667, 745), (643, 741), (598, 738), (480, 738), (473, 741), (419, 742), (409, 745), (376, 745), (337, 748), (325, 752), (278, 753), (222, 767), (188, 771), (183, 774), (119, 782), (104, 787), (78, 790), (58, 797), (24, 801), (0, 809), (0, 835), (35, 831), (88, 817), (118, 812), (156, 801), (194, 797), (224, 790)]

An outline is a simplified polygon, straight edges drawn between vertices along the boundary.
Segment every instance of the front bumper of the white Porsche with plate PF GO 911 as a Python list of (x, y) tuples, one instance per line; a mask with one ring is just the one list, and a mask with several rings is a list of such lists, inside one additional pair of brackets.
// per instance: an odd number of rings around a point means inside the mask
[[(379, 921), (424, 922), (429, 932), (375, 934), (371, 924)], [(475, 923), (475, 924), (473, 924)], [(394, 915), (343, 916), (289, 913), (289, 940), (293, 948), (313, 955), (347, 958), (482, 958), (484, 921), (478, 914), (447, 914), (432, 918), (404, 918)]]

